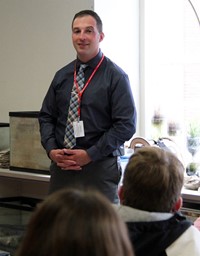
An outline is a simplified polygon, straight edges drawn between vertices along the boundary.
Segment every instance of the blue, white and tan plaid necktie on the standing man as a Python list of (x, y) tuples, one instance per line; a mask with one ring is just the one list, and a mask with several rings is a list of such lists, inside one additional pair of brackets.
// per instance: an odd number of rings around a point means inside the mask
[[(85, 82), (84, 69), (86, 67), (87, 67), (86, 64), (81, 64), (78, 74), (76, 76), (77, 84), (79, 86), (80, 91), (84, 87), (84, 82)], [(77, 121), (79, 118), (78, 107), (79, 107), (78, 92), (77, 92), (76, 84), (74, 83), (72, 92), (71, 92), (71, 99), (70, 99), (67, 125), (66, 125), (65, 138), (64, 138), (64, 147), (66, 148), (73, 148), (76, 145), (76, 138), (74, 137), (73, 122)]]

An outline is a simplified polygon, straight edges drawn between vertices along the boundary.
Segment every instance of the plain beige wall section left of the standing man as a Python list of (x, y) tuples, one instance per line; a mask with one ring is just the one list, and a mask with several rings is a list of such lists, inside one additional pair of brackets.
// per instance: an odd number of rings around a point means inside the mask
[(75, 57), (71, 20), (94, 0), (0, 0), (0, 122), (39, 110), (57, 69)]

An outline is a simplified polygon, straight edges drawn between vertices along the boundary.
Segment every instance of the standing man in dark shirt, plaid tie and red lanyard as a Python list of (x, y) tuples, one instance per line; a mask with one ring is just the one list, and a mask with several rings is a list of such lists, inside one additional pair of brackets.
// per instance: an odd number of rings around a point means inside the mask
[(111, 202), (121, 178), (118, 157), (136, 130), (127, 74), (105, 57), (102, 21), (91, 10), (72, 21), (77, 58), (59, 70), (39, 113), (42, 145), (52, 160), (50, 193), (95, 187)]

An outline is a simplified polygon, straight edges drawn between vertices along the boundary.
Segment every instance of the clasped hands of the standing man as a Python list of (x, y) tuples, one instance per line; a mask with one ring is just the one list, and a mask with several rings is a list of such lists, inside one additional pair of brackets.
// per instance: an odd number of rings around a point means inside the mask
[(79, 171), (82, 169), (82, 166), (91, 162), (87, 151), (83, 149), (52, 149), (49, 157), (62, 170)]

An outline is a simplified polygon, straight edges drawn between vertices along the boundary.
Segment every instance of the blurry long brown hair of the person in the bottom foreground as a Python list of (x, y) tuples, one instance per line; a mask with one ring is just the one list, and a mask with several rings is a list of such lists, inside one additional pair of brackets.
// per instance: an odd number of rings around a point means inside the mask
[(16, 256), (133, 256), (125, 224), (99, 192), (51, 194), (30, 220)]

